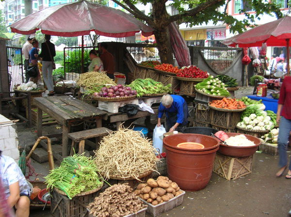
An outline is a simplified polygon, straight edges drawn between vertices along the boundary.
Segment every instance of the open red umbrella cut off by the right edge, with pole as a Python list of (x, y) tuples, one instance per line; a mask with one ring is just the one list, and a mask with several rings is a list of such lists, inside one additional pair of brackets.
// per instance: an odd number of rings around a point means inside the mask
[(284, 16), (278, 20), (266, 23), (245, 31), (239, 35), (228, 38), (222, 43), (235, 47), (258, 47), (262, 43), (267, 46), (287, 46), (287, 73), (289, 69), (289, 41), (291, 39), (291, 17)]

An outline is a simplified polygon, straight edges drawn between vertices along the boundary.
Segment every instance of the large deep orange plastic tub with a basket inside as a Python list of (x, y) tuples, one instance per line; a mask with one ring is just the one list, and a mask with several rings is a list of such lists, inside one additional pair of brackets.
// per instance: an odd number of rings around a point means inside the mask
[[(184, 149), (180, 143), (193, 142), (203, 149)], [(168, 177), (187, 191), (205, 188), (210, 181), (219, 140), (201, 134), (185, 133), (167, 136), (163, 145), (167, 156)]]

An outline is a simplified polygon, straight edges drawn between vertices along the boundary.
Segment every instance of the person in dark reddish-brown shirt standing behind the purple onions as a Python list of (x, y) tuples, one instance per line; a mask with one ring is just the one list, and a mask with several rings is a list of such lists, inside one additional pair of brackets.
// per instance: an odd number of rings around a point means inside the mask
[(114, 79), (115, 63), (113, 55), (107, 50), (107, 43), (102, 42), (99, 44), (99, 51), (101, 51), (100, 59), (103, 62), (104, 71), (106, 71), (107, 76)]

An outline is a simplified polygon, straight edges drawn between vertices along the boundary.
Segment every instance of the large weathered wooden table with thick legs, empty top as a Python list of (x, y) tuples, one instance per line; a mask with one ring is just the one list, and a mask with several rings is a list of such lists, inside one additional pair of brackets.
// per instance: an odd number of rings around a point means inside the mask
[(42, 136), (42, 111), (63, 126), (63, 157), (68, 155), (68, 136), (72, 123), (80, 120), (96, 120), (97, 128), (102, 127), (102, 116), (107, 112), (71, 96), (34, 98), (37, 111), (37, 136)]

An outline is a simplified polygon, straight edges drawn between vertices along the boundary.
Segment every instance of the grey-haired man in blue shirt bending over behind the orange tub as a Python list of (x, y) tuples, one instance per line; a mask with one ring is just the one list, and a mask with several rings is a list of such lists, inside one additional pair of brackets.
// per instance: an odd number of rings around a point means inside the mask
[(166, 113), (165, 129), (173, 132), (181, 131), (188, 123), (188, 106), (183, 97), (178, 95), (164, 95), (159, 107), (158, 127), (161, 126), (161, 118)]

